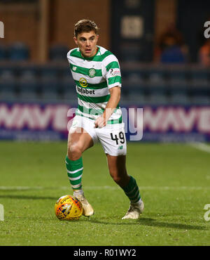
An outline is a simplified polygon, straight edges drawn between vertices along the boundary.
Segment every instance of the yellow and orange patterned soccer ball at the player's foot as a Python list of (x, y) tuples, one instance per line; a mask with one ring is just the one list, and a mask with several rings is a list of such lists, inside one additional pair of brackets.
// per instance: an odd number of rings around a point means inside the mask
[(55, 203), (55, 215), (60, 220), (78, 220), (82, 213), (82, 203), (71, 195), (64, 195)]

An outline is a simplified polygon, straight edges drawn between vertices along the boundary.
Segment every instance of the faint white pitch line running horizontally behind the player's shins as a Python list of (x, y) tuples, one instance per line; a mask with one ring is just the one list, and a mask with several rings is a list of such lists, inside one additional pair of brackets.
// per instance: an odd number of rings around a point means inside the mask
[[(85, 186), (84, 190), (119, 190), (118, 186)], [(0, 190), (71, 190), (69, 186), (42, 187), (42, 186), (0, 186)], [(201, 186), (139, 186), (139, 190), (210, 190), (210, 187)]]

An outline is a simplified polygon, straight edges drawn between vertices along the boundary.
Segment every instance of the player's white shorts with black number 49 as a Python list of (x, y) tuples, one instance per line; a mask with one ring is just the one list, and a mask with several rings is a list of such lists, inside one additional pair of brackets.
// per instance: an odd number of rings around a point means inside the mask
[(73, 118), (69, 132), (75, 131), (77, 127), (85, 129), (92, 137), (94, 143), (99, 141), (102, 144), (104, 152), (108, 155), (126, 155), (127, 143), (124, 123), (106, 124), (106, 126), (102, 128), (94, 128), (94, 120), (76, 115)]

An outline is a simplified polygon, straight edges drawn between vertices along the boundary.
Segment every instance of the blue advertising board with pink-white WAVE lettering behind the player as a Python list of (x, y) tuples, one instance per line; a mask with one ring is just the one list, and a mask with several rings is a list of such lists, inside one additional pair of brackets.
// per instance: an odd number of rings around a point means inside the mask
[[(210, 106), (121, 109), (127, 141), (210, 141)], [(0, 103), (0, 140), (66, 140), (75, 110), (66, 104)]]

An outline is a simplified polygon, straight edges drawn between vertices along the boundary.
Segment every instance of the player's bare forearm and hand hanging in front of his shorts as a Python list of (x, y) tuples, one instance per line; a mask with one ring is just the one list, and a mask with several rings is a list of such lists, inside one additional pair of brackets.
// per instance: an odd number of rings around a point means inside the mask
[(120, 93), (121, 93), (120, 86), (114, 86), (113, 88), (109, 89), (109, 93), (110, 93), (110, 98), (108, 103), (106, 104), (104, 113), (100, 117), (98, 117), (94, 122), (96, 128), (97, 127), (102, 128), (106, 126), (109, 117), (111, 117), (112, 113), (114, 112), (114, 110), (116, 109), (120, 101)]

